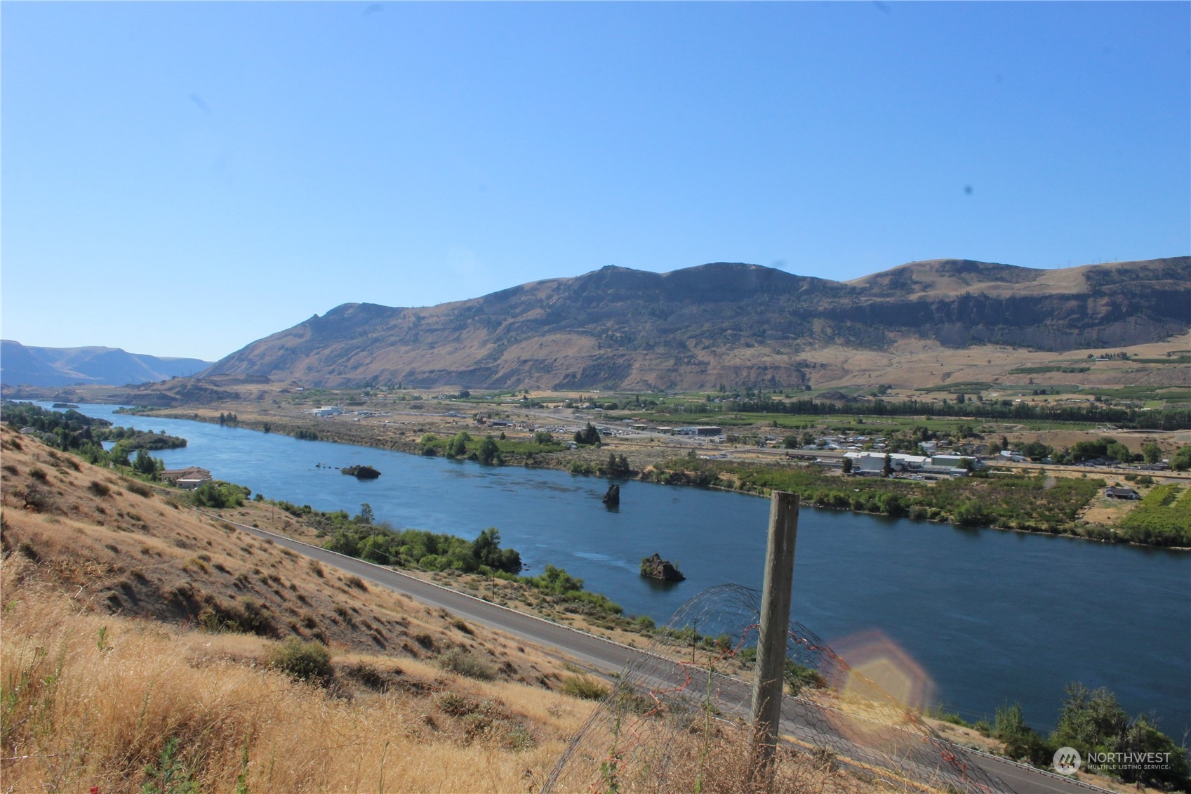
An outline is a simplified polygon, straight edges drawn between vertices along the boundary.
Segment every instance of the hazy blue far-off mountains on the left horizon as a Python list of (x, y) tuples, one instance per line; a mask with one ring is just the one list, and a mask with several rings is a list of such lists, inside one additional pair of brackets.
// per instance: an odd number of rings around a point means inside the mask
[(160, 358), (116, 347), (27, 347), (0, 340), (0, 382), (8, 385), (123, 386), (192, 376), (210, 366), (200, 359)]

